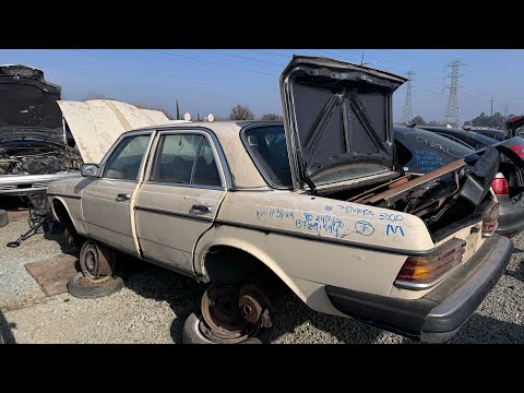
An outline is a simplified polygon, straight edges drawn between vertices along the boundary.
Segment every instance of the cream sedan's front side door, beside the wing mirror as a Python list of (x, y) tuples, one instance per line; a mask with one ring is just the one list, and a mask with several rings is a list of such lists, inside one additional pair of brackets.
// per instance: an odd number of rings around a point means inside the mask
[(122, 251), (138, 253), (131, 229), (130, 199), (151, 139), (151, 131), (130, 134), (116, 143), (102, 164), (102, 177), (82, 193), (88, 234)]

